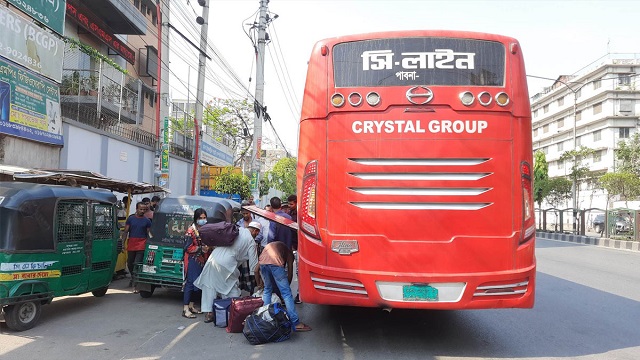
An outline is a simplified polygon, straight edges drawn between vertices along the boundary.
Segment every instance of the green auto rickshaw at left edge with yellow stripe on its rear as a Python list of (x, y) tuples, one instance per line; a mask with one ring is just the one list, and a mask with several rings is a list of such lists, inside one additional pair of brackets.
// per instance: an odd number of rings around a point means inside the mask
[(106, 294), (118, 255), (116, 197), (103, 190), (0, 182), (0, 307), (10, 329), (54, 297)]

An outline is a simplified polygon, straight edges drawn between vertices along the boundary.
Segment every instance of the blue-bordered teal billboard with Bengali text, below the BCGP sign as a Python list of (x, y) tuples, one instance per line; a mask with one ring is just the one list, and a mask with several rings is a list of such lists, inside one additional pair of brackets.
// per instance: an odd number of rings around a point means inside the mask
[(0, 59), (0, 133), (63, 145), (58, 85)]

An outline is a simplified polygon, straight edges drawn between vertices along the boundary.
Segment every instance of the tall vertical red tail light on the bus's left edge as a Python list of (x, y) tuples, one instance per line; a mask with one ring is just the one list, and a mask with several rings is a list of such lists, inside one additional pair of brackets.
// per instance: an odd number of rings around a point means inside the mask
[(318, 186), (318, 160), (307, 163), (304, 167), (304, 175), (302, 177), (302, 193), (300, 199), (300, 229), (313, 236), (320, 238), (318, 231), (318, 223), (316, 222), (316, 196)]

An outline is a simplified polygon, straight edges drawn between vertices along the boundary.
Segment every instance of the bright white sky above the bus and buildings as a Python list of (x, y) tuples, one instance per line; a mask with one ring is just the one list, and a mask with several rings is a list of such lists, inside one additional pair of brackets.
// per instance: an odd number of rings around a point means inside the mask
[[(181, 2), (176, 10), (186, 9), (192, 18), (202, 11), (196, 0), (171, 1)], [(257, 21), (259, 6), (259, 0), (210, 0), (208, 41), (252, 93), (255, 87), (255, 55), (245, 34), (248, 27), (243, 24), (252, 23), (254, 19)], [(268, 8), (271, 16), (277, 14), (278, 18), (267, 29), (272, 41), (267, 44), (265, 58), (264, 105), (277, 134), (294, 155), (297, 153), (299, 109), (307, 61), (313, 45), (322, 39), (376, 31), (422, 29), (507, 35), (520, 42), (527, 74), (547, 78), (574, 74), (607, 54), (636, 53), (640, 57), (640, 21), (637, 21), (640, 1), (635, 0), (271, 0)], [(172, 15), (171, 22), (177, 27), (187, 27), (184, 16)], [(174, 43), (181, 41), (174, 39)], [(199, 38), (192, 40), (199, 43)], [(177, 44), (176, 48), (182, 49), (183, 57), (189, 57), (185, 45)], [(276, 71), (274, 64), (278, 64), (278, 57), (275, 54), (280, 54), (280, 60), (286, 65), (279, 68), (286, 67), (288, 75)], [(195, 54), (193, 59), (189, 77), (184, 74), (188, 66), (174, 66), (183, 60), (172, 57), (171, 68), (175, 69), (174, 75), (180, 77), (178, 82), (172, 79), (172, 88), (184, 86), (185, 79), (189, 79), (195, 93)], [(236, 96), (228, 90), (223, 91), (212, 81), (218, 79), (219, 83), (231, 83), (231, 80), (224, 80), (226, 75), (216, 69), (215, 64), (212, 68), (206, 82), (205, 100)], [(251, 84), (249, 78), (253, 79)], [(290, 81), (283, 81), (283, 78)], [(283, 85), (286, 83), (290, 84), (288, 91), (284, 90), (287, 89)], [(529, 78), (529, 93), (534, 95), (551, 84), (552, 81)], [(172, 97), (184, 98), (186, 86), (184, 88), (182, 91), (174, 90)], [(241, 96), (239, 88), (236, 89), (235, 93)], [(292, 98), (295, 100), (287, 101)], [(275, 139), (273, 132), (265, 127), (263, 136)]]

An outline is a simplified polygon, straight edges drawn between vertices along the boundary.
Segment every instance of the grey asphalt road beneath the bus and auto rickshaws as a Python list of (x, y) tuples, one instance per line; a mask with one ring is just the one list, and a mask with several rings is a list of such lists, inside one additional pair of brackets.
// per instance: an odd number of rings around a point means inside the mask
[(56, 299), (39, 325), (0, 325), (0, 359), (640, 359), (640, 254), (538, 240), (534, 309), (407, 311), (298, 305), (313, 327), (251, 346), (180, 316), (181, 296)]

